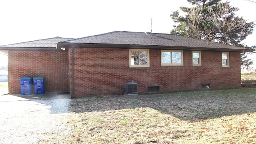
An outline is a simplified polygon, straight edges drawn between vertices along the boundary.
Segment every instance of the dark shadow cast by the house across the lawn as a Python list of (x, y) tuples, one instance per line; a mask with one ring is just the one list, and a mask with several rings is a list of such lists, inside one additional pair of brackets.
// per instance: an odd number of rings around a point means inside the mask
[(136, 96), (87, 96), (70, 101), (70, 112), (150, 107), (181, 120), (202, 120), (256, 112), (256, 88), (153, 93)]

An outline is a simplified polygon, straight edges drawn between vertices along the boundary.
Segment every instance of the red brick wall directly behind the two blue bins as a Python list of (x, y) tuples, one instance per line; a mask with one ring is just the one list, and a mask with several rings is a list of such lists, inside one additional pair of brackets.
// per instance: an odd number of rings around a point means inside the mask
[(67, 52), (9, 51), (9, 93), (20, 94), (20, 78), (43, 76), (45, 92), (67, 92)]

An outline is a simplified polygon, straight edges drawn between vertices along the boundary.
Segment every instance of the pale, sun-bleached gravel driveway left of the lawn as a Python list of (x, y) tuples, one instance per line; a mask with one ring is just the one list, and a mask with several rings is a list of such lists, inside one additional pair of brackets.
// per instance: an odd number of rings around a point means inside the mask
[(62, 139), (72, 99), (22, 100), (0, 102), (0, 144), (44, 143), (48, 138)]

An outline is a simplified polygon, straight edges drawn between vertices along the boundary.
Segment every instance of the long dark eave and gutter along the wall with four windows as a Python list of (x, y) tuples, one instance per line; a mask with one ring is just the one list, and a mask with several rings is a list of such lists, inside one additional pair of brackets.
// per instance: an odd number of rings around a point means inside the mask
[(158, 45), (138, 45), (138, 44), (89, 44), (89, 43), (61, 43), (57, 44), (57, 49), (61, 48), (133, 48), (133, 49), (162, 49), (162, 50), (199, 50), (199, 51), (222, 51), (222, 52), (253, 52), (254, 50), (231, 49), (231, 48), (205, 48), (205, 47), (186, 47), (186, 46), (158, 46)]

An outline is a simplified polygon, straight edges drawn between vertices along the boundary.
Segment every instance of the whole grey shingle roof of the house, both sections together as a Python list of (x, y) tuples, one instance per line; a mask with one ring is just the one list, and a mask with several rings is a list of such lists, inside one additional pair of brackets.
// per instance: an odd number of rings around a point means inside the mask
[[(58, 43), (58, 44), (57, 44)], [(84, 38), (47, 38), (42, 40), (34, 40), (30, 42), (21, 42), (17, 44), (9, 44), (0, 46), (0, 50), (53, 50), (56, 48), (72, 45), (79, 47), (116, 47), (116, 48), (156, 48), (156, 49), (184, 49), (184, 50), (221, 50), (221, 51), (237, 51), (252, 52), (250, 48), (230, 46), (216, 42), (208, 42), (185, 36), (174, 34), (146, 34), (144, 32), (120, 32), (114, 31), (95, 36), (87, 36)]]

